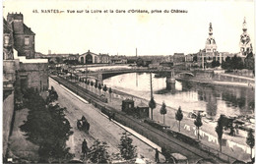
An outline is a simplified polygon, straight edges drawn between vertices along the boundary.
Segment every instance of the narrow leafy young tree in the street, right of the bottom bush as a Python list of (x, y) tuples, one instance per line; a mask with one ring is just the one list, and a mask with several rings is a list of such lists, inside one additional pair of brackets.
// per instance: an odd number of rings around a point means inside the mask
[(125, 160), (133, 159), (137, 156), (136, 146), (132, 145), (133, 139), (126, 132), (123, 133), (123, 136), (120, 138), (120, 154)]

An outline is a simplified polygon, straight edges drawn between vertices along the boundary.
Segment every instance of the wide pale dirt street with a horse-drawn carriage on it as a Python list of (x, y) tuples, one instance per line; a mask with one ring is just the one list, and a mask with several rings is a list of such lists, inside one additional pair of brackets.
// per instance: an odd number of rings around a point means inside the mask
[[(67, 108), (66, 117), (73, 127), (72, 131), (74, 132), (74, 135), (70, 137), (67, 144), (71, 147), (71, 152), (75, 154), (76, 159), (79, 159), (82, 155), (81, 146), (84, 138), (87, 139), (89, 147), (92, 146), (94, 140), (98, 138), (100, 141), (107, 143), (109, 146), (107, 149), (109, 154), (119, 152), (118, 144), (120, 143), (122, 133), (124, 133), (123, 129), (101, 115), (98, 109), (92, 104), (79, 100), (60, 84), (50, 80), (49, 85), (52, 85), (57, 91), (59, 105)], [(76, 127), (77, 119), (81, 119), (83, 115), (91, 124), (89, 134), (79, 131)], [(133, 139), (133, 144), (137, 145), (137, 152), (139, 154), (152, 161), (155, 160), (155, 150), (151, 146), (136, 137), (131, 136), (131, 138)], [(164, 158), (160, 156), (160, 160), (163, 161)]]

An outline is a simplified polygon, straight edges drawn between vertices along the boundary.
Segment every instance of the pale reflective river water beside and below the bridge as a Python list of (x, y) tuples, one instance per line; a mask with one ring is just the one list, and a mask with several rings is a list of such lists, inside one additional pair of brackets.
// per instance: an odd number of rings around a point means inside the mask
[[(178, 82), (170, 90), (166, 89), (165, 78), (153, 78), (154, 98), (158, 103), (165, 102), (169, 107), (186, 112), (206, 111), (208, 117), (218, 119), (220, 114), (227, 116), (254, 113), (254, 89), (221, 85)], [(112, 77), (103, 81), (107, 86), (150, 99), (150, 74), (131, 73)]]

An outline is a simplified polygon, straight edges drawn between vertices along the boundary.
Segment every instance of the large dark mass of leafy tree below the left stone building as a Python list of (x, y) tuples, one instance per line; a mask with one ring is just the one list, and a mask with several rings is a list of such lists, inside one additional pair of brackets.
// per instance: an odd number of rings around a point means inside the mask
[(72, 158), (66, 141), (73, 134), (69, 121), (65, 118), (64, 108), (46, 102), (32, 89), (25, 91), (26, 107), (30, 110), (21, 131), (32, 143), (37, 144), (40, 161), (60, 162)]

